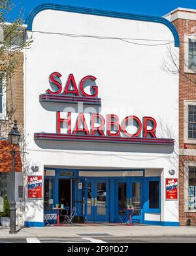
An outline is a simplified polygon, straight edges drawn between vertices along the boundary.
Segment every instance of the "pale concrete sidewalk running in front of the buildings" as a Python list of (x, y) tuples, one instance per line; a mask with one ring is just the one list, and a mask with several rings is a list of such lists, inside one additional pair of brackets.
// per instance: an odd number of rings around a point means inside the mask
[(160, 226), (110, 226), (83, 225), (75, 227), (18, 227), (17, 234), (9, 234), (8, 228), (0, 226), (0, 238), (77, 238), (81, 235), (88, 236), (112, 236), (112, 237), (196, 237), (196, 227), (160, 227)]

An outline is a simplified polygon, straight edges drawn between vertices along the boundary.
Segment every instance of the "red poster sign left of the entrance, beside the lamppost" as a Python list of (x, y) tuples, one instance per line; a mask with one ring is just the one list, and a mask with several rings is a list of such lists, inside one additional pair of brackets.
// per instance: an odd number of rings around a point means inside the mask
[(27, 198), (42, 198), (42, 176), (28, 176)]

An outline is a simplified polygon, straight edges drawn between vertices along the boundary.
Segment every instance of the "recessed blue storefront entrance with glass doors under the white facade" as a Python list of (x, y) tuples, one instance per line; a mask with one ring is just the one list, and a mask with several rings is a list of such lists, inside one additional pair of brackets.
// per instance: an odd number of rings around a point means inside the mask
[[(159, 177), (90, 177), (80, 176), (78, 170), (50, 170), (44, 177), (44, 211), (56, 204), (76, 208), (74, 221), (144, 223), (144, 213), (160, 213)], [(99, 175), (102, 175), (99, 172)]]

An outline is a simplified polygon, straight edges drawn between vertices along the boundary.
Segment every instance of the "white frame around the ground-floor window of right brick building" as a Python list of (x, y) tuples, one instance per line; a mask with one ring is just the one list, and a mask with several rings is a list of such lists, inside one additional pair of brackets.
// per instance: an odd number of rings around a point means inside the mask
[(184, 211), (196, 212), (196, 209), (189, 210), (189, 167), (196, 167), (196, 162), (184, 162)]

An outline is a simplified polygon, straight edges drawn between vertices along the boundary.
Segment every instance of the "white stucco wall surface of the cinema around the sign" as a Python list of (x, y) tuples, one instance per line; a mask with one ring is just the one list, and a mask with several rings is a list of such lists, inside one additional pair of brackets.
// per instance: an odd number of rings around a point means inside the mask
[[(25, 135), (26, 174), (31, 166), (66, 168), (148, 168), (161, 172), (161, 221), (178, 221), (178, 201), (165, 201), (165, 178), (174, 169), (178, 177), (178, 78), (161, 69), (167, 61), (167, 46), (144, 46), (119, 39), (68, 37), (51, 34), (69, 33), (128, 39), (173, 40), (163, 24), (43, 10), (33, 20), (33, 44), (25, 52)], [(39, 31), (39, 32), (38, 32)], [(45, 32), (51, 32), (50, 34)], [(135, 41), (156, 45), (157, 41)], [(162, 42), (163, 43), (163, 42)], [(172, 43), (171, 49), (174, 48)], [(86, 75), (97, 77), (101, 115), (117, 114), (154, 117), (157, 137), (173, 137), (175, 151), (168, 146), (115, 145), (104, 143), (35, 143), (35, 132), (56, 133), (56, 111), (59, 104), (43, 107), (39, 95), (50, 88), (48, 76), (61, 73), (63, 88), (70, 73), (76, 83)], [(49, 111), (50, 110), (50, 111)], [(169, 154), (168, 154), (169, 153)], [(149, 174), (150, 175), (150, 174)], [(32, 203), (33, 202), (33, 203)], [(36, 208), (35, 208), (36, 205)], [(42, 200), (27, 200), (25, 221), (42, 221)], [(152, 217), (150, 217), (152, 219)], [(157, 220), (157, 218), (155, 218)]]

